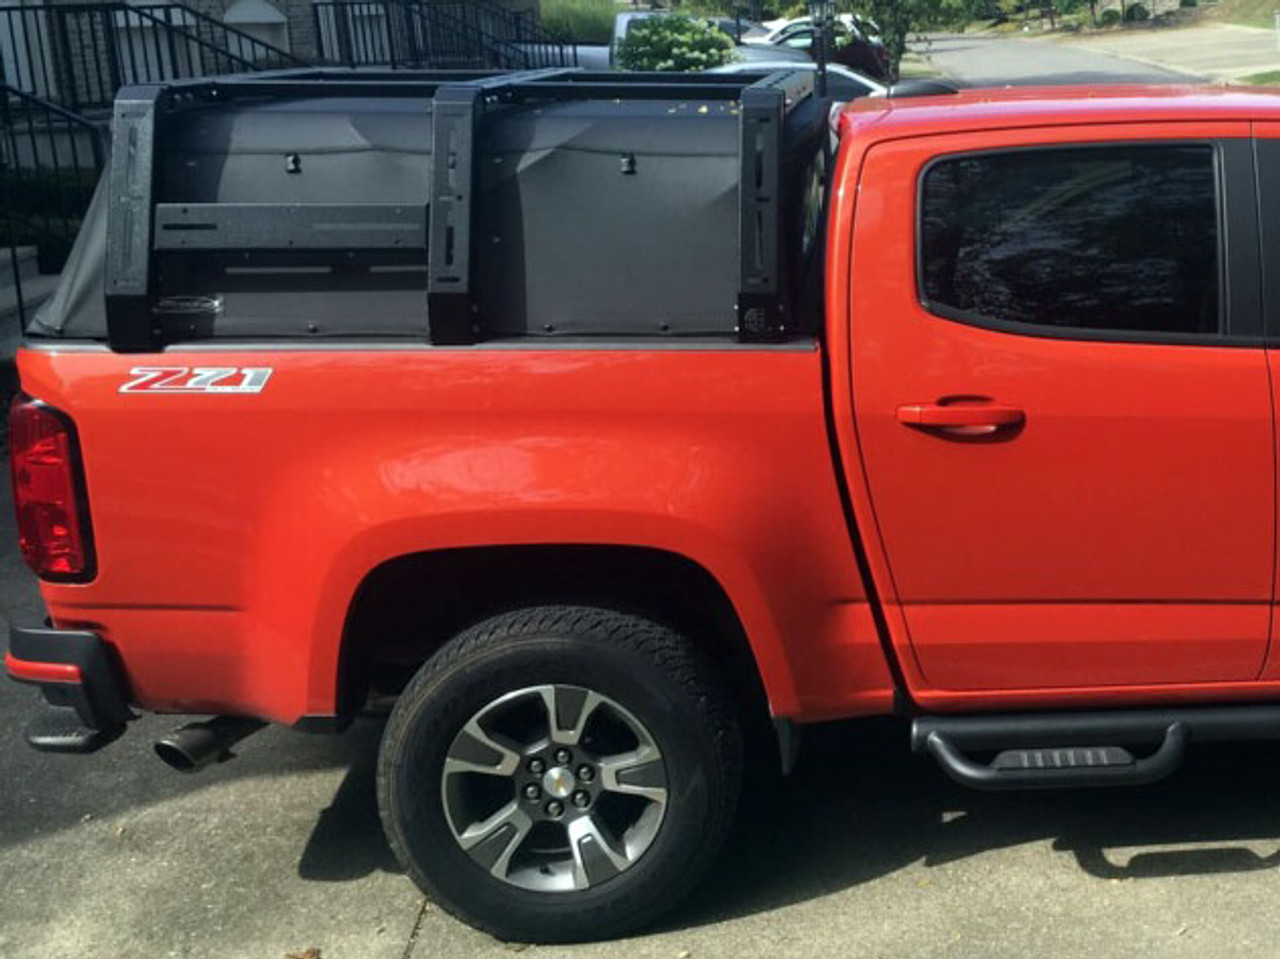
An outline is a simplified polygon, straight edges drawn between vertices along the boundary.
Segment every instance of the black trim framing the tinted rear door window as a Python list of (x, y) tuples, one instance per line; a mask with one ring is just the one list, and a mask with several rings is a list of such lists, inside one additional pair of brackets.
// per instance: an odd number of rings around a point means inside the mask
[[(1239, 146), (1230, 146), (1239, 145)], [(1207, 146), (1213, 161), (1215, 214), (1217, 216), (1217, 284), (1219, 329), (1216, 333), (1172, 333), (1158, 330), (1110, 330), (1083, 326), (1055, 326), (1023, 323), (987, 316), (968, 310), (957, 310), (929, 300), (924, 289), (924, 181), (934, 166), (966, 157), (996, 156), (1004, 154), (1064, 152), (1068, 150), (1105, 150), (1142, 146)], [(1231, 166), (1233, 175), (1228, 175)], [(1258, 248), (1258, 223), (1256, 191), (1253, 188), (1252, 141), (1244, 137), (1176, 137), (1139, 140), (1089, 140), (1061, 143), (1036, 143), (1032, 146), (984, 147), (936, 154), (929, 157), (915, 181), (915, 294), (929, 316), (978, 326), (997, 333), (1046, 339), (1074, 339), (1101, 343), (1153, 343), (1166, 346), (1261, 347), (1265, 343), (1261, 303), (1261, 252)], [(1236, 187), (1233, 189), (1231, 183)], [(1247, 184), (1242, 187), (1240, 184)], [(1248, 202), (1239, 202), (1239, 192), (1248, 191)], [(1236, 202), (1231, 202), (1236, 200)], [(1240, 262), (1252, 255), (1252, 264)], [(1244, 273), (1245, 275), (1238, 275)], [(1249, 283), (1252, 274), (1258, 279)], [(1239, 287), (1239, 288), (1238, 288)], [(1258, 296), (1247, 296), (1258, 287)], [(1245, 296), (1239, 296), (1245, 293)], [(1256, 300), (1256, 302), (1238, 302)]]

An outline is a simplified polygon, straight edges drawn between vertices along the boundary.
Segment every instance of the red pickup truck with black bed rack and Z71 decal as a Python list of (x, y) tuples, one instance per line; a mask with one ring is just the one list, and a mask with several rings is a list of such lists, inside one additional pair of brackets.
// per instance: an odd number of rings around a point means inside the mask
[(652, 921), (805, 723), (986, 789), (1280, 739), (1280, 97), (809, 74), (138, 87), (10, 414), (32, 745), (398, 694), (499, 936)]

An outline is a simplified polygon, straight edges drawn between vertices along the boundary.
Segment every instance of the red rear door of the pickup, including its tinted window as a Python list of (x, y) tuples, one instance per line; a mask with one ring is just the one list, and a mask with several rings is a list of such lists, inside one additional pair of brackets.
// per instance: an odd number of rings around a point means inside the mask
[[(859, 443), (924, 682), (1248, 680), (1275, 558), (1247, 124), (876, 146)], [(1120, 136), (1123, 140), (1116, 140)]]

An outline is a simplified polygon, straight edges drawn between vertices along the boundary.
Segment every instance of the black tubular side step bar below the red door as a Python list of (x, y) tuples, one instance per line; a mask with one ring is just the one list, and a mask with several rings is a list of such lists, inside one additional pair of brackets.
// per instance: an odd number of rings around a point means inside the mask
[[(1280, 705), (923, 716), (911, 750), (984, 790), (1137, 786), (1169, 776), (1188, 743), (1280, 740)], [(1142, 758), (1129, 746), (1153, 746)], [(969, 753), (995, 752), (989, 762)]]

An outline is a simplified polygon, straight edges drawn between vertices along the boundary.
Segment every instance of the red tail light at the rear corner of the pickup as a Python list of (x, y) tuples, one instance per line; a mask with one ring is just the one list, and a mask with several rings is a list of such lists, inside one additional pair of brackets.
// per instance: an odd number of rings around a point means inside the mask
[(18, 543), (36, 575), (58, 583), (93, 579), (93, 533), (76, 424), (38, 399), (9, 408), (9, 456)]

